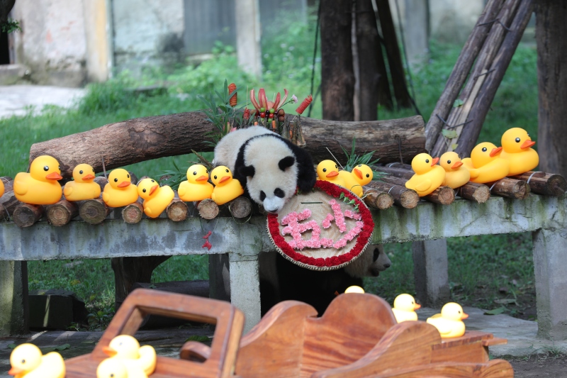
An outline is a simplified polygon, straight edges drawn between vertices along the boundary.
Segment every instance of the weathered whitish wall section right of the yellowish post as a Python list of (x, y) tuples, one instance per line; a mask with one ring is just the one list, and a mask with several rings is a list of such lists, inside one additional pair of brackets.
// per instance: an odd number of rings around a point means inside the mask
[(183, 0), (113, 0), (112, 13), (116, 70), (184, 60)]

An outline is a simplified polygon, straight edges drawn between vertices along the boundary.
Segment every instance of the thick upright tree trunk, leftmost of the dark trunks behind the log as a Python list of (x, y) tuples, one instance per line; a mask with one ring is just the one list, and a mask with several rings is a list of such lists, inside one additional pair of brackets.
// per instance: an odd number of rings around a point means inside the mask
[(352, 1), (321, 0), (320, 6), (322, 118), (353, 121)]

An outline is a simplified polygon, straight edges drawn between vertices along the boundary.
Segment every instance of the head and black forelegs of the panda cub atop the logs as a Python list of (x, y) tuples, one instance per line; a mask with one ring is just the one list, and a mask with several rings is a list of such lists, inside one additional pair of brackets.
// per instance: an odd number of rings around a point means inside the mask
[(275, 134), (248, 140), (240, 152), (239, 179), (245, 177), (250, 198), (270, 213), (279, 212), (296, 189), (308, 191), (315, 185), (308, 152)]

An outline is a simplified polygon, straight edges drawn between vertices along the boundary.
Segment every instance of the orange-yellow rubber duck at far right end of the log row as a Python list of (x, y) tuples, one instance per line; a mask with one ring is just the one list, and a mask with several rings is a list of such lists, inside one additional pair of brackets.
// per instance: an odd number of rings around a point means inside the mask
[(522, 174), (531, 171), (539, 164), (539, 155), (532, 145), (536, 144), (523, 128), (510, 128), (502, 135), (503, 151), (500, 157), (508, 160), (508, 174)]

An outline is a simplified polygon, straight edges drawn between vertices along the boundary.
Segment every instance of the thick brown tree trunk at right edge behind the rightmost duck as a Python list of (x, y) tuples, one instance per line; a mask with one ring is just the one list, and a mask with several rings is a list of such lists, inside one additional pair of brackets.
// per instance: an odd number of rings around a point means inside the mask
[(541, 0), (536, 15), (539, 169), (567, 177), (567, 3)]

